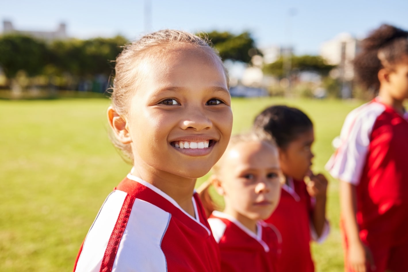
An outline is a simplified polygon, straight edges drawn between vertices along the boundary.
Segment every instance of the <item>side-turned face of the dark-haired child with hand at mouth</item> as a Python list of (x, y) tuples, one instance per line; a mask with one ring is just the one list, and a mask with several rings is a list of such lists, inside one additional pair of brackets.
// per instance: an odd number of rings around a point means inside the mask
[(313, 128), (310, 128), (286, 146), (279, 149), (279, 161), (284, 175), (303, 180), (312, 166), (311, 147), (315, 141)]

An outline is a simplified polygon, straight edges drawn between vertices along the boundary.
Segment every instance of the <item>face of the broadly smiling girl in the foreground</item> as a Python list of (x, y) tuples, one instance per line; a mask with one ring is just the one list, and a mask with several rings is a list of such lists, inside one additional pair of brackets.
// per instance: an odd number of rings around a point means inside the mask
[(145, 57), (136, 67), (126, 117), (134, 166), (164, 179), (202, 177), (231, 136), (224, 69), (215, 56), (191, 45), (162, 49), (152, 49), (157, 56)]

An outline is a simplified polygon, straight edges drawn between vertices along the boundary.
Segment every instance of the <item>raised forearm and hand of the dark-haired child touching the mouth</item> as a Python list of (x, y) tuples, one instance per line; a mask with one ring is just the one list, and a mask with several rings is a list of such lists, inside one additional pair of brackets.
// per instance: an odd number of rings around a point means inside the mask
[(316, 199), (316, 203), (312, 213), (312, 224), (315, 228), (317, 237), (323, 234), (324, 226), (326, 224), (326, 192), (327, 179), (322, 174), (309, 175), (310, 181), (307, 184), (307, 191), (310, 197)]

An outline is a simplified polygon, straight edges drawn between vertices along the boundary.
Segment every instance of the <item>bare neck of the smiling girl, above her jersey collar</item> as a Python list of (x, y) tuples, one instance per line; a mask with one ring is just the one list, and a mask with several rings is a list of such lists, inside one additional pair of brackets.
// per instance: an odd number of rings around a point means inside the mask
[(166, 193), (166, 195), (169, 195), (184, 211), (195, 217), (192, 197), (196, 179), (180, 177), (171, 173), (160, 172), (159, 170), (149, 171), (149, 169), (137, 166), (132, 168), (131, 174), (140, 177)]

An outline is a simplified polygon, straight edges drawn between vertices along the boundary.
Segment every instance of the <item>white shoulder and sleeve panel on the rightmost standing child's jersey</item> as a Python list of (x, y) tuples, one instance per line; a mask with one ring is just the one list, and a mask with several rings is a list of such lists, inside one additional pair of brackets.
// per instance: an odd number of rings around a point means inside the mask
[(373, 126), (385, 109), (381, 103), (369, 102), (347, 115), (341, 128), (341, 144), (326, 164), (330, 175), (354, 185), (359, 184)]

